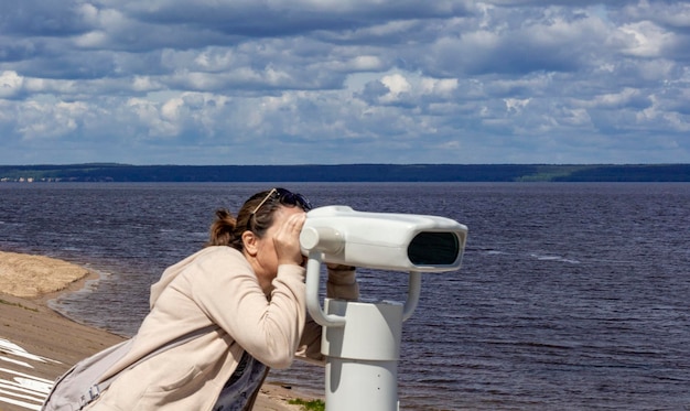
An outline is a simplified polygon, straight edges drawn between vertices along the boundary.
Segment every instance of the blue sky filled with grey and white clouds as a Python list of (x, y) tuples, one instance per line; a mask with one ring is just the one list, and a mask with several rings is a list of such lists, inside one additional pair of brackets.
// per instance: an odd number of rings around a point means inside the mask
[(2, 0), (0, 164), (690, 162), (690, 2)]

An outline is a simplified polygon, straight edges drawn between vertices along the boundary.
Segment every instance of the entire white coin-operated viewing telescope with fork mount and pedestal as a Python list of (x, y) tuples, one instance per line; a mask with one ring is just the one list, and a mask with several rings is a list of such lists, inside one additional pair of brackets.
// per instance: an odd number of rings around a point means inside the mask
[[(306, 306), (324, 327), (326, 411), (398, 410), (402, 322), (419, 302), (421, 274), (460, 268), (467, 227), (444, 217), (314, 208), (300, 234), (306, 262)], [(409, 273), (405, 304), (319, 300), (322, 263)]]

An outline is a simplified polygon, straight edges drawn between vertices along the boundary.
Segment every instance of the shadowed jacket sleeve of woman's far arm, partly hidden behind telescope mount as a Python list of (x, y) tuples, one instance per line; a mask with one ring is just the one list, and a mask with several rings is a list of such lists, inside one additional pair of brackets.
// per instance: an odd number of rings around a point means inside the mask
[[(343, 299), (356, 301), (359, 299), (359, 285), (355, 275), (355, 270), (333, 271), (328, 270), (328, 281), (326, 282), (326, 295), (332, 299)], [(297, 353), (300, 359), (323, 364), (324, 356), (321, 354), (321, 334), (323, 327), (306, 314), (304, 333), (300, 340)]]

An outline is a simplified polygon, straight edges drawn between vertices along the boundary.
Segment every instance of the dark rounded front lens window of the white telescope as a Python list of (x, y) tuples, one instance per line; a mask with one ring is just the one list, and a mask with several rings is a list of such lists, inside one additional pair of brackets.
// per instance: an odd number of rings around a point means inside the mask
[(450, 266), (460, 252), (460, 241), (453, 232), (422, 231), (408, 247), (408, 258), (414, 266)]

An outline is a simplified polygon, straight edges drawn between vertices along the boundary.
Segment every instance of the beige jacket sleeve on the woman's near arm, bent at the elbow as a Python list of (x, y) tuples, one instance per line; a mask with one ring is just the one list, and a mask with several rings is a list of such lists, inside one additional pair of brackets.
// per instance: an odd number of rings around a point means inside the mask
[(217, 256), (201, 269), (192, 290), (206, 315), (259, 361), (290, 366), (305, 324), (304, 269), (279, 266), (270, 296), (240, 255)]

